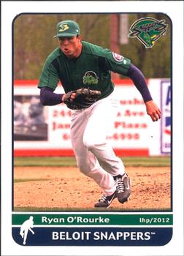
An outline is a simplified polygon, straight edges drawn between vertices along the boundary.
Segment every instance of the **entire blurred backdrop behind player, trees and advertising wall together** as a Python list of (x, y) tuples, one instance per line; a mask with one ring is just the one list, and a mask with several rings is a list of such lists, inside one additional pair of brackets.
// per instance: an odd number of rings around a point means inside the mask
[[(165, 20), (166, 34), (152, 48), (128, 37), (140, 18)], [(161, 13), (21, 14), (12, 23), (15, 156), (73, 156), (71, 111), (66, 105), (43, 108), (37, 84), (47, 56), (58, 47), (53, 38), (61, 20), (76, 20), (82, 39), (119, 53), (142, 70), (153, 99), (162, 110), (153, 124), (130, 79), (112, 73), (120, 108), (110, 136), (119, 156), (168, 156), (171, 151), (172, 23)], [(59, 91), (57, 91), (59, 89)], [(58, 86), (56, 93), (63, 93)], [(26, 143), (26, 141), (30, 143)], [(32, 141), (31, 141), (32, 140)]]

